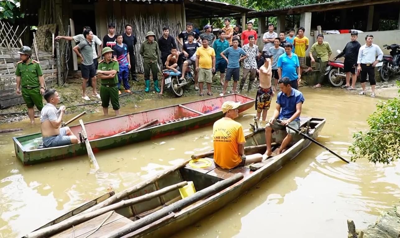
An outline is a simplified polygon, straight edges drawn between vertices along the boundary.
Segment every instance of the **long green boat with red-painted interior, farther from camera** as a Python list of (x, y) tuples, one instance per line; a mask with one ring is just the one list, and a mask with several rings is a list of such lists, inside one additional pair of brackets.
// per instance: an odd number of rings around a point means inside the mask
[[(96, 153), (100, 150), (178, 134), (210, 125), (222, 118), (222, 103), (229, 100), (241, 102), (242, 105), (239, 107), (239, 112), (244, 112), (254, 105), (253, 98), (240, 94), (230, 94), (87, 122), (85, 123), (85, 128), (92, 150)], [(158, 119), (158, 121), (152, 127), (133, 132), (135, 128), (155, 119)], [(78, 135), (82, 131), (79, 124), (70, 126), (70, 129), (75, 135)], [(16, 157), (24, 165), (86, 154), (84, 143), (52, 148), (38, 148), (39, 144), (42, 143), (41, 133), (14, 137), (13, 140)]]

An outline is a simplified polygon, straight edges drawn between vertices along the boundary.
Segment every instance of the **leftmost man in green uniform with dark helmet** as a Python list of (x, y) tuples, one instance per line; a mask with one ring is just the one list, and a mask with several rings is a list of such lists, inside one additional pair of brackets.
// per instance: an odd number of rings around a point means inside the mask
[[(30, 123), (35, 123), (35, 111), (33, 106), (36, 105), (39, 111), (43, 108), (42, 94), (44, 94), (44, 78), (42, 68), (39, 62), (32, 60), (32, 50), (28, 46), (22, 46), (20, 51), (20, 59), (17, 64), (15, 74), (17, 76), (17, 91), (19, 95), (22, 92), (22, 98), (28, 107), (28, 116)], [(20, 90), (20, 86), (22, 90)]]

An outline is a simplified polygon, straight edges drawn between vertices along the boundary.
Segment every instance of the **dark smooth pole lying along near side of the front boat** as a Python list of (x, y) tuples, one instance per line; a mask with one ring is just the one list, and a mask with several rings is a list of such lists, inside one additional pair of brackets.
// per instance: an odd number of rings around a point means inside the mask
[(143, 226), (146, 226), (148, 224), (151, 224), (152, 222), (155, 222), (156, 220), (159, 220), (160, 218), (163, 218), (164, 216), (168, 215), (169, 212), (178, 212), (183, 208), (199, 200), (202, 200), (203, 198), (212, 196), (213, 194), (216, 194), (217, 192), (220, 192), (225, 188), (228, 188), (232, 184), (235, 184), (236, 182), (242, 180), (242, 178), (243, 174), (238, 173), (230, 178), (219, 181), (207, 188), (204, 188), (203, 190), (196, 192), (192, 196), (188, 196), (187, 198), (179, 200), (178, 202), (166, 206), (165, 208), (162, 208), (161, 210), (158, 210), (148, 216), (145, 216), (144, 218), (141, 218), (139, 220), (134, 221), (133, 223), (130, 223), (130, 225), (126, 228), (116, 230), (116, 232), (112, 236), (109, 236), (108, 238), (118, 238), (126, 234), (129, 234), (130, 232), (134, 232), (135, 230), (138, 230)]

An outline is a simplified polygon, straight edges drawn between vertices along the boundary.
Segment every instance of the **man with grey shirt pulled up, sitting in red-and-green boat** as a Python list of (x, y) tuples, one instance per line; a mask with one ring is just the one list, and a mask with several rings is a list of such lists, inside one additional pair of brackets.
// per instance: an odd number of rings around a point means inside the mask
[(57, 110), (56, 105), (60, 102), (58, 92), (55, 89), (47, 89), (44, 91), (44, 99), (47, 104), (40, 112), (40, 129), (42, 130), (44, 147), (77, 144), (78, 138), (68, 126), (60, 128), (65, 106), (60, 106), (60, 109)]

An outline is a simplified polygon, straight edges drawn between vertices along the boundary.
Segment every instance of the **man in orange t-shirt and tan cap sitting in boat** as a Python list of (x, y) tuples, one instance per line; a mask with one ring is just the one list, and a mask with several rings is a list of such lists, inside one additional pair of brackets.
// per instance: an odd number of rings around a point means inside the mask
[(224, 117), (212, 127), (214, 140), (214, 162), (224, 169), (261, 162), (262, 154), (244, 155), (242, 124), (233, 119), (239, 116), (240, 102), (226, 101), (222, 104)]

